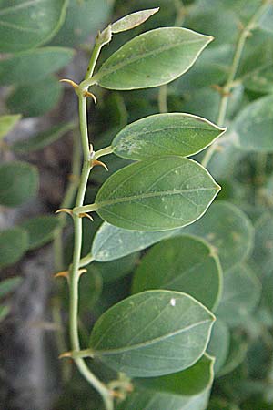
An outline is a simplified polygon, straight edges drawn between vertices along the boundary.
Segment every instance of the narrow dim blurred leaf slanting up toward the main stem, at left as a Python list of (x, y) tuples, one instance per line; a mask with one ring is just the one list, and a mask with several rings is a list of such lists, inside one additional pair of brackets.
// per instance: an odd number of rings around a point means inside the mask
[(45, 131), (36, 134), (35, 137), (15, 141), (15, 143), (10, 146), (10, 149), (15, 152), (33, 152), (38, 149), (44, 149), (59, 138), (62, 138), (68, 131), (74, 128), (74, 122), (66, 122), (46, 129)]

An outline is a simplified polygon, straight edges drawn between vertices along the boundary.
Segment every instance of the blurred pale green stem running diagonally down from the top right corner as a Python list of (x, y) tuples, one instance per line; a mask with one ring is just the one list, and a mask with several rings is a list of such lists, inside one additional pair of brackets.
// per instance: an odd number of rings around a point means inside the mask
[[(238, 43), (235, 49), (233, 61), (230, 67), (228, 77), (227, 77), (227, 83), (222, 89), (222, 97), (221, 97), (221, 102), (219, 106), (218, 118), (217, 118), (217, 125), (220, 127), (223, 126), (225, 119), (226, 119), (228, 100), (231, 94), (232, 87), (234, 86), (234, 79), (238, 71), (238, 66), (240, 63), (240, 59), (243, 53), (244, 46), (246, 44), (246, 40), (249, 36), (249, 33), (251, 32), (253, 28), (255, 28), (259, 18), (264, 14), (267, 8), (268, 8), (268, 2), (263, 2), (263, 4), (258, 7), (258, 10), (256, 11), (256, 13), (252, 15), (247, 26), (245, 26), (242, 29), (240, 35), (238, 36)], [(202, 160), (202, 165), (204, 167), (207, 167), (208, 162), (212, 158), (215, 150), (217, 149), (217, 144), (218, 144), (218, 141), (215, 142), (213, 145), (211, 145), (209, 149), (207, 149), (204, 159)]]

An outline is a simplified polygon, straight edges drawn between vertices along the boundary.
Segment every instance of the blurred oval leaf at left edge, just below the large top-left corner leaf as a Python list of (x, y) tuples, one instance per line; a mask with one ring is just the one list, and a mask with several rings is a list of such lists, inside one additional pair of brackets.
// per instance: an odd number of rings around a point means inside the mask
[(73, 56), (74, 50), (65, 47), (43, 47), (7, 56), (0, 60), (0, 85), (32, 85), (65, 67)]

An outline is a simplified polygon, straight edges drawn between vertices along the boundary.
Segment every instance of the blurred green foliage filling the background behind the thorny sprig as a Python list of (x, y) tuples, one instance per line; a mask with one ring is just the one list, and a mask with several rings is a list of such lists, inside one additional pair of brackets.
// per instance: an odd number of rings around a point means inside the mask
[[(242, 28), (261, 0), (4, 0), (0, 4), (0, 402), (5, 410), (98, 410), (96, 392), (68, 361), (67, 287), (53, 273), (71, 261), (72, 227), (52, 213), (73, 203), (79, 174), (76, 97), (59, 83), (81, 81), (96, 31), (118, 17), (160, 6), (147, 23), (106, 46), (99, 63), (132, 36), (158, 26), (184, 26), (214, 36), (197, 63), (167, 87), (109, 92), (94, 87), (90, 134), (95, 149), (138, 118), (164, 109), (217, 121)], [(25, 4), (25, 5), (24, 5)], [(224, 272), (208, 353), (216, 356), (209, 410), (273, 408), (273, 5), (249, 33), (228, 98), (227, 134), (208, 169), (222, 186), (207, 214), (185, 233), (214, 247)], [(221, 125), (221, 124), (220, 124)], [(72, 158), (72, 151), (74, 157)], [(200, 158), (197, 156), (197, 160)], [(86, 202), (126, 159), (94, 169)], [(83, 256), (100, 220), (84, 221)], [(62, 236), (64, 235), (64, 241)], [(64, 246), (64, 255), (60, 246)], [(131, 292), (146, 251), (88, 267), (81, 281), (83, 345), (96, 318)], [(139, 268), (137, 268), (139, 269)], [(65, 282), (65, 281), (64, 281)], [(92, 368), (112, 378), (102, 364)], [(205, 392), (206, 393), (206, 392)], [(203, 395), (205, 395), (203, 393)], [(207, 393), (206, 393), (207, 395)], [(120, 409), (198, 410), (195, 395), (135, 385)], [(207, 398), (206, 398), (207, 400)], [(170, 406), (172, 403), (172, 407)]]

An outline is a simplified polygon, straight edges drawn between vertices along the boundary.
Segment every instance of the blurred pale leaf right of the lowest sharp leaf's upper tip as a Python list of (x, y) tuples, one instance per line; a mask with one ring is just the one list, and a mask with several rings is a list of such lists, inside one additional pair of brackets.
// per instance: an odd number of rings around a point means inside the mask
[(244, 324), (258, 305), (261, 286), (256, 275), (244, 265), (224, 272), (223, 296), (217, 317), (229, 326)]

